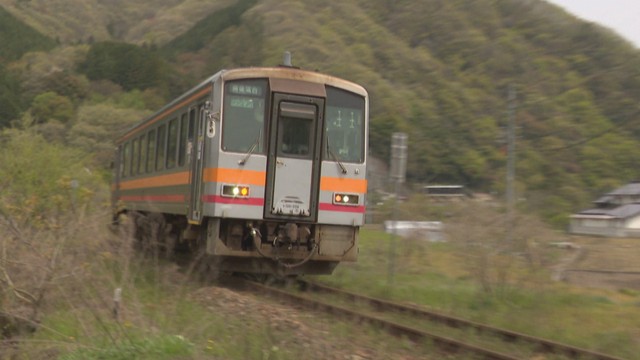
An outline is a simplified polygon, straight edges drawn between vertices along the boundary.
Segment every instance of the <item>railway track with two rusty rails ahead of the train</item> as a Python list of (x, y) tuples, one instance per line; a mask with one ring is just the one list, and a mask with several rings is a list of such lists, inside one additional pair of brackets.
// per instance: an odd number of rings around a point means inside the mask
[[(553, 354), (569, 359), (620, 360), (620, 358), (591, 350), (499, 329), (415, 306), (358, 295), (316, 283), (298, 281), (298, 285), (301, 289), (304, 289), (305, 293), (266, 286), (251, 281), (247, 281), (245, 285), (252, 291), (277, 297), (295, 306), (320, 310), (359, 323), (366, 322), (383, 328), (392, 335), (408, 338), (415, 342), (430, 341), (439, 350), (448, 354), (463, 353), (484, 359), (523, 359), (533, 358), (541, 354)], [(309, 296), (311, 292), (329, 295), (331, 300), (320, 300), (322, 296)], [(337, 303), (336, 299), (342, 299), (343, 301)], [(365, 307), (370, 310), (363, 310)], [(390, 317), (388, 314), (392, 314), (392, 316)], [(399, 314), (404, 314), (406, 320), (398, 320)], [(425, 324), (433, 323), (453, 328), (458, 333), (451, 335), (451, 331), (434, 331), (432, 325), (425, 326)], [(426, 328), (429, 326), (431, 329), (427, 330)], [(471, 334), (471, 332), (474, 334)], [(446, 335), (443, 335), (443, 333)], [(481, 339), (478, 340), (478, 337), (481, 337)], [(460, 340), (460, 338), (465, 340)], [(473, 338), (473, 343), (467, 338)], [(490, 340), (485, 338), (490, 338)], [(502, 344), (495, 345), (496, 339)]]

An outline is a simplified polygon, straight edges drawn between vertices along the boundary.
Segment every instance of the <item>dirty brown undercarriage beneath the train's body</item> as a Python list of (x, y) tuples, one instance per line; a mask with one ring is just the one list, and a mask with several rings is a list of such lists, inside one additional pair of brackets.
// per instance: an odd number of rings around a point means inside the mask
[(193, 225), (184, 216), (146, 212), (126, 219), (142, 252), (190, 258), (211, 274), (331, 274), (358, 251), (352, 226), (221, 218)]

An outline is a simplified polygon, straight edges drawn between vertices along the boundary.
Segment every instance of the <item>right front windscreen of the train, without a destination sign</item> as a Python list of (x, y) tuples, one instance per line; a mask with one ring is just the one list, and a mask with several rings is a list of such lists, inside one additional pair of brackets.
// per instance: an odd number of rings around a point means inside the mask
[(362, 96), (327, 86), (326, 159), (354, 163), (364, 161), (364, 105)]

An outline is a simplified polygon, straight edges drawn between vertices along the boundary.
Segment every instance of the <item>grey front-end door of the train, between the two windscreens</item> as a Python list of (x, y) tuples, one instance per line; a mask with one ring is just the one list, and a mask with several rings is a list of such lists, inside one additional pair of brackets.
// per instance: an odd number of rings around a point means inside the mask
[(275, 93), (265, 218), (315, 221), (324, 100)]

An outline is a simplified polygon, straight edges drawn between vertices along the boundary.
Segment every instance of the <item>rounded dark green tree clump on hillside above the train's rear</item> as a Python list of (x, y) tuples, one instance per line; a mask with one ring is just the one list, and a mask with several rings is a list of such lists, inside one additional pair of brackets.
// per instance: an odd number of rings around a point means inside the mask
[(116, 42), (95, 43), (80, 71), (90, 80), (110, 80), (125, 90), (162, 87), (167, 67), (155, 50)]

